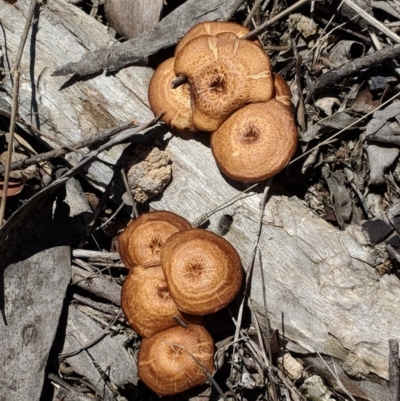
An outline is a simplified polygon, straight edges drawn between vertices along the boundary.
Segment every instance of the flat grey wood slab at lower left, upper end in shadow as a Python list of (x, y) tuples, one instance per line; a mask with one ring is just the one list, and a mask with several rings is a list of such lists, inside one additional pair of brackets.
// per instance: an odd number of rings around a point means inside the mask
[[(63, 191), (31, 202), (0, 230), (0, 399), (38, 401), (71, 279)], [(58, 199), (58, 200), (57, 200)]]

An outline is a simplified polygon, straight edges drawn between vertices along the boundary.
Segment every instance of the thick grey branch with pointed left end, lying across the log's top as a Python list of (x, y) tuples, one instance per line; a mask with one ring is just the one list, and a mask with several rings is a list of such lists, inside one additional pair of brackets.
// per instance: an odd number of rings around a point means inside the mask
[[(228, 20), (243, 0), (188, 0), (137, 38), (102, 48), (58, 68), (54, 75), (85, 76), (120, 68), (173, 46), (193, 25), (202, 21)], [(60, 63), (62, 65), (62, 63)]]

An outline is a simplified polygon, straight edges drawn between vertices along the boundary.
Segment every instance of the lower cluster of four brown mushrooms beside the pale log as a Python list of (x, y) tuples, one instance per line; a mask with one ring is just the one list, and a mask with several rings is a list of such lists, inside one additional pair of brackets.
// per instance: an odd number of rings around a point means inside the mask
[(130, 270), (122, 310), (143, 337), (140, 379), (159, 395), (203, 383), (202, 367), (213, 372), (214, 344), (202, 318), (238, 293), (238, 253), (224, 238), (167, 211), (133, 220), (119, 237), (119, 252)]

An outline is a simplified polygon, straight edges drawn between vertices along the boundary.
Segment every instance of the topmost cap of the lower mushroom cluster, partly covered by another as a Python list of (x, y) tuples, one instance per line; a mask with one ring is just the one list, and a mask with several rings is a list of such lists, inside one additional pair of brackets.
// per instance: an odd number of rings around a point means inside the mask
[(160, 250), (169, 236), (192, 226), (172, 212), (144, 213), (133, 220), (119, 236), (119, 254), (124, 265), (159, 262)]

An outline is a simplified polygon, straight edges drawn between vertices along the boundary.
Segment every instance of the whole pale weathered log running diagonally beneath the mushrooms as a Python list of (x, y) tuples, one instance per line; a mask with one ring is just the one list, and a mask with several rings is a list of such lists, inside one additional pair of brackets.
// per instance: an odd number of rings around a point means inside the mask
[[(17, 8), (0, 0), (0, 41), (9, 60), (15, 56), (27, 3), (19, 0)], [(22, 118), (38, 122), (45, 132), (70, 143), (130, 118), (144, 122), (151, 117), (146, 100), (151, 71), (144, 66), (84, 81), (51, 76), (51, 71), (67, 59), (79, 60), (88, 51), (111, 45), (106, 28), (99, 22), (63, 0), (48, 0), (36, 24), (22, 60)], [(9, 101), (8, 78), (5, 90)], [(163, 144), (173, 161), (173, 180), (163, 196), (150, 204), (154, 209), (171, 210), (198, 221), (240, 195), (243, 187), (220, 175), (207, 143), (204, 134), (186, 139), (165, 137)], [(122, 149), (115, 147), (102, 157), (114, 163)], [(79, 159), (71, 154), (68, 160), (75, 164)], [(88, 179), (97, 187), (105, 188), (111, 176), (108, 166), (99, 162), (90, 165)], [(238, 249), (245, 269), (256, 241), (260, 200), (258, 193), (243, 195), (240, 201), (214, 213), (208, 227), (217, 231), (222, 214), (232, 215), (226, 238)], [(357, 227), (338, 231), (301, 201), (279, 194), (267, 204), (259, 248), (269, 318), (272, 328), (281, 334), (284, 328), (286, 347), (331, 378), (316, 355), (319, 352), (335, 365), (340, 380), (354, 395), (374, 401), (389, 399), (388, 340), (400, 333), (400, 282), (394, 275), (377, 274), (375, 267), (384, 255), (367, 245)], [(256, 260), (251, 299), (263, 324), (263, 283)], [(335, 379), (330, 381), (335, 383)]]

